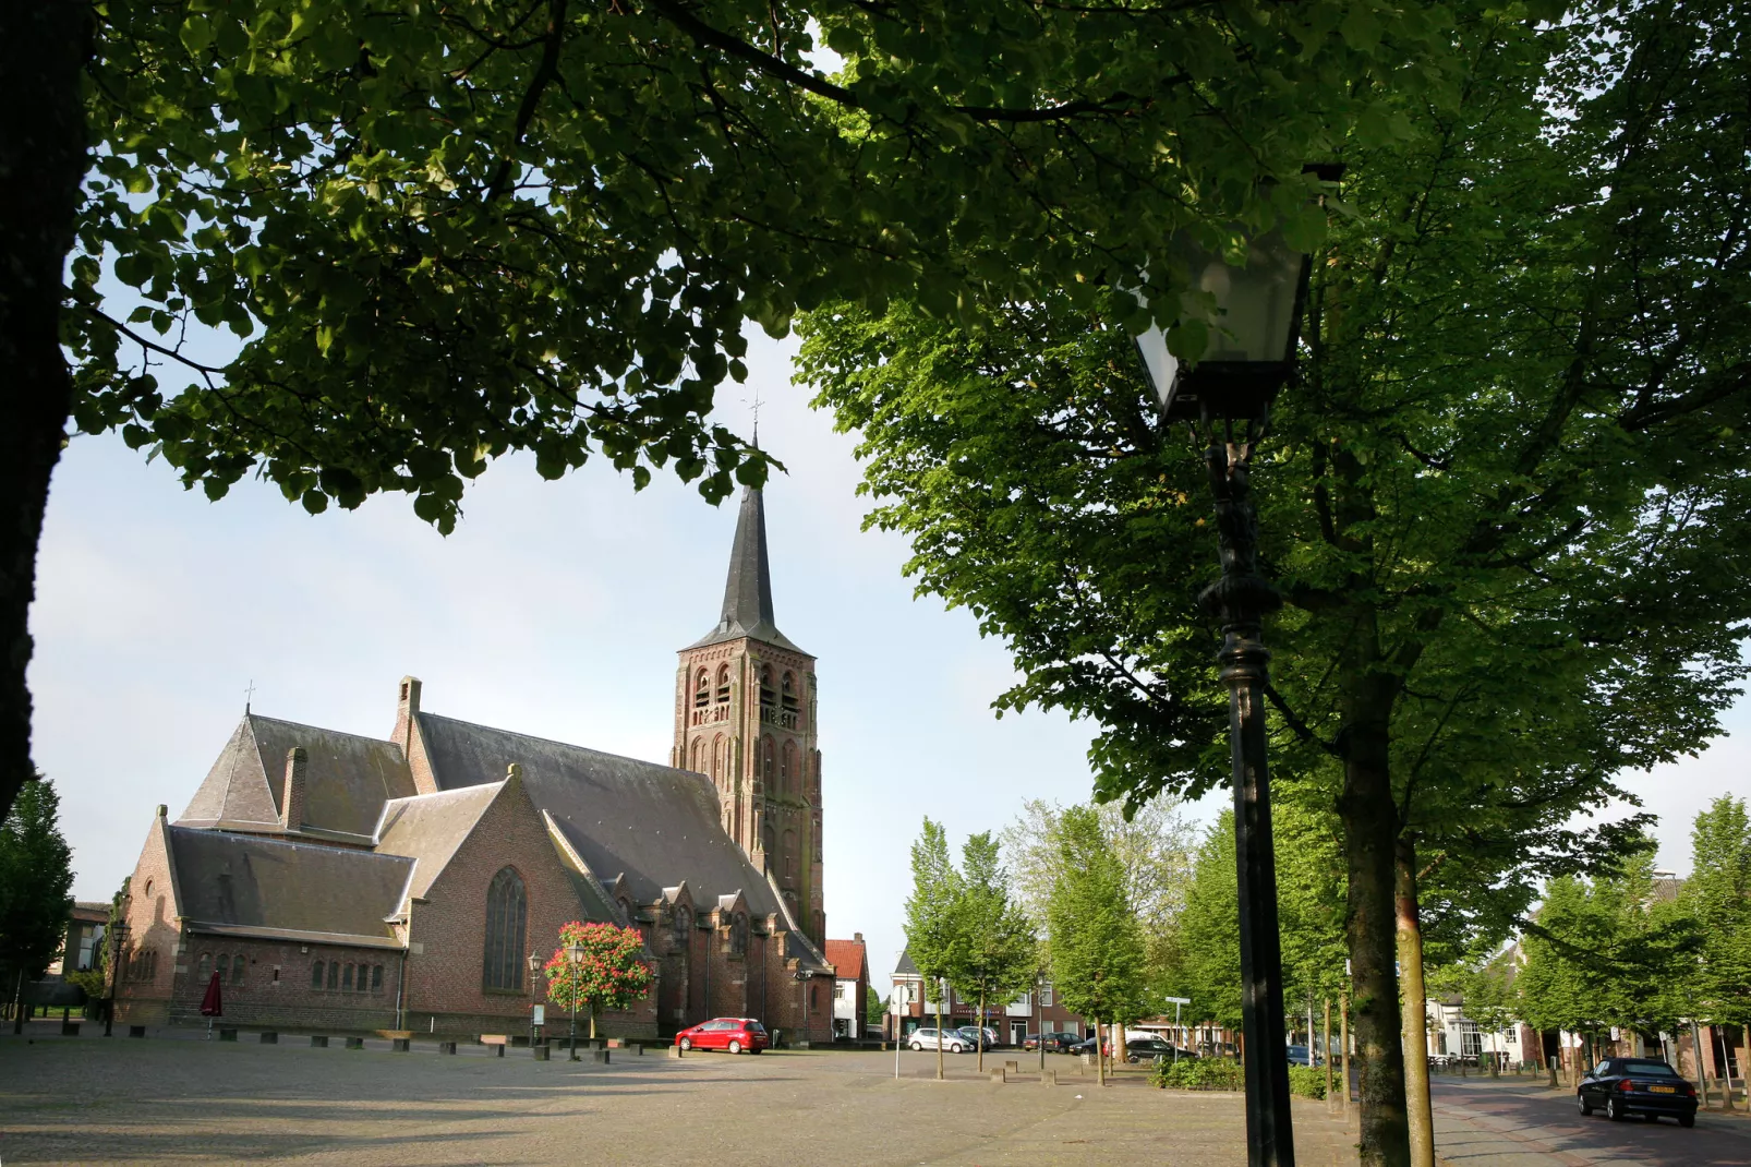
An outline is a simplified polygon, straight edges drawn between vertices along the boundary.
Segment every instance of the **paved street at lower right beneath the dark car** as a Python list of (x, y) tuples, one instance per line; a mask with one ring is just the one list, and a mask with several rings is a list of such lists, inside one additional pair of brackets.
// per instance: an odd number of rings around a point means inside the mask
[(1446, 1167), (1744, 1167), (1751, 1120), (1698, 1113), (1684, 1130), (1672, 1120), (1614, 1123), (1581, 1118), (1574, 1090), (1534, 1078), (1436, 1076), (1436, 1156)]

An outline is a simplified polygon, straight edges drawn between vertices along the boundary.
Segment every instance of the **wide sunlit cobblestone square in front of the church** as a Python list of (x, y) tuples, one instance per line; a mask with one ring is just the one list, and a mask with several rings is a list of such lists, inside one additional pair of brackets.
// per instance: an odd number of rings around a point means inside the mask
[[(939, 1083), (935, 1055), (911, 1051), (895, 1081), (893, 1053), (613, 1050), (594, 1065), (280, 1043), (4, 1036), (0, 1163), (1245, 1163), (1238, 1095), (1152, 1090), (1136, 1071), (1100, 1088), (1061, 1055), (1044, 1088), (1033, 1072), (991, 1083), (967, 1055)], [(1355, 1162), (1319, 1102), (1297, 1102), (1296, 1146), (1303, 1167)]]

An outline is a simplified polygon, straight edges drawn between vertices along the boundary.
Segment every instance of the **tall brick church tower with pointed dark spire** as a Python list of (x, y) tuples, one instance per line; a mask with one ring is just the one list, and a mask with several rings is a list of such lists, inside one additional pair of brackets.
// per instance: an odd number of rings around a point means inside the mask
[(765, 505), (742, 492), (723, 615), (681, 650), (671, 764), (711, 778), (723, 829), (777, 883), (797, 927), (826, 941), (814, 657), (772, 622)]

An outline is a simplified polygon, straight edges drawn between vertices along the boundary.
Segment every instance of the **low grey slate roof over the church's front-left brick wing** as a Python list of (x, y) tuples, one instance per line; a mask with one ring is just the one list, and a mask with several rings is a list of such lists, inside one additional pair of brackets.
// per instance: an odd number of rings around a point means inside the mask
[(177, 909), (208, 932), (399, 946), (387, 923), (413, 859), (350, 846), (168, 827)]

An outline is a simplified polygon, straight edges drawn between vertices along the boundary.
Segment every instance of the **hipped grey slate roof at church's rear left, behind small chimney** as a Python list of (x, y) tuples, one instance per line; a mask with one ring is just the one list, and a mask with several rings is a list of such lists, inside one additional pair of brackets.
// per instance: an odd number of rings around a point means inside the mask
[(415, 794), (401, 746), (298, 722), (245, 713), (187, 810), (189, 827), (278, 827), (285, 753), (303, 746), (305, 822), (313, 831), (368, 839), (383, 803)]

